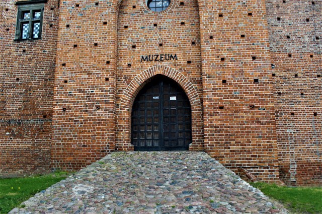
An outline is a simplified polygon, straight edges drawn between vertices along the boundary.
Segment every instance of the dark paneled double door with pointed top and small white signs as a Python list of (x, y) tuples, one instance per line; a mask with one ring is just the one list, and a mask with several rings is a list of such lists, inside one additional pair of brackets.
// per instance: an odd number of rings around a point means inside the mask
[(188, 150), (192, 142), (191, 106), (172, 79), (157, 75), (136, 96), (131, 143), (136, 151)]

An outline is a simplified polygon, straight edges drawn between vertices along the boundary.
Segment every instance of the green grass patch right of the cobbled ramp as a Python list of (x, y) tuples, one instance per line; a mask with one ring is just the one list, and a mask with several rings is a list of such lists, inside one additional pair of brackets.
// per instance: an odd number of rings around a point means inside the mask
[(263, 182), (251, 185), (279, 200), (292, 213), (322, 213), (322, 187), (286, 187)]

